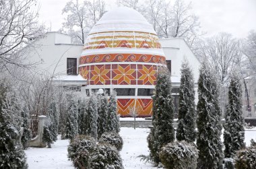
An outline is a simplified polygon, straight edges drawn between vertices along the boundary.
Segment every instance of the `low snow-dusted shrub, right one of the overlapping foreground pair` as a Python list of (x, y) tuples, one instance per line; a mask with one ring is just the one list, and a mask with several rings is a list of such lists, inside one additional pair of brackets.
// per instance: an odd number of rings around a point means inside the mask
[(122, 169), (123, 164), (119, 151), (107, 143), (99, 143), (90, 155), (89, 168)]

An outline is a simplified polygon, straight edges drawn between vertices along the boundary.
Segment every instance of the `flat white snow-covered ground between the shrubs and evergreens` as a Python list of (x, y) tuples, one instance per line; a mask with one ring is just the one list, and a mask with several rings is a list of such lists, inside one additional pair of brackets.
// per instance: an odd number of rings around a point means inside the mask
[[(146, 138), (150, 129), (121, 128), (120, 135), (123, 137), (124, 145), (120, 152), (123, 158), (123, 166), (127, 169), (154, 168), (150, 163), (141, 162), (137, 156), (148, 155), (148, 144)], [(245, 142), (250, 144), (251, 139), (256, 139), (256, 128), (245, 131)], [(58, 139), (51, 149), (49, 148), (29, 148), (26, 155), (28, 166), (31, 169), (37, 168), (74, 168), (72, 163), (67, 160), (68, 140)]]

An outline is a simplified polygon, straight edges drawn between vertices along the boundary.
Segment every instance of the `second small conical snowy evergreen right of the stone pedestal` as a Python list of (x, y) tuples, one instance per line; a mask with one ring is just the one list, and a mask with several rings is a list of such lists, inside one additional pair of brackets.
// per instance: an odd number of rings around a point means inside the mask
[(67, 96), (68, 105), (67, 105), (67, 114), (65, 116), (65, 130), (64, 136), (65, 139), (73, 139), (75, 136), (78, 135), (78, 108), (77, 108), (77, 100), (75, 96), (68, 95)]

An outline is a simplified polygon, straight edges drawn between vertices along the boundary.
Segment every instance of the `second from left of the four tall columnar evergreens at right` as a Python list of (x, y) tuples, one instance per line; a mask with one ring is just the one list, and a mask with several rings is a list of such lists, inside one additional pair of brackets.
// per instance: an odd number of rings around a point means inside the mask
[(189, 143), (195, 141), (195, 90), (194, 79), (189, 63), (181, 66), (181, 88), (179, 91), (179, 119), (176, 134), (177, 140)]

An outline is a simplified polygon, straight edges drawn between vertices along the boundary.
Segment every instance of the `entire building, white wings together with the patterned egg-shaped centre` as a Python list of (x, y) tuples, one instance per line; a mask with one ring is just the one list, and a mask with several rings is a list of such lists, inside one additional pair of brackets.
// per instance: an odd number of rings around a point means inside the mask
[(48, 32), (35, 44), (32, 61), (54, 74), (57, 85), (84, 97), (99, 89), (107, 94), (115, 90), (121, 116), (129, 116), (131, 110), (139, 116), (152, 115), (158, 67), (167, 65), (171, 71), (176, 113), (182, 61), (191, 64), (195, 81), (199, 76), (200, 63), (183, 38), (158, 39), (146, 19), (127, 7), (105, 13), (85, 44), (72, 44), (70, 36), (59, 32)]

